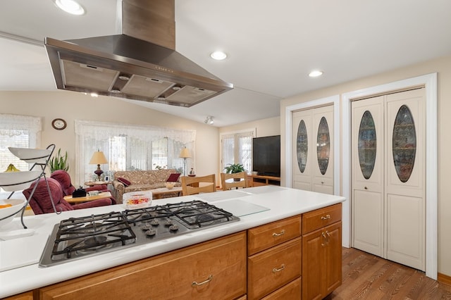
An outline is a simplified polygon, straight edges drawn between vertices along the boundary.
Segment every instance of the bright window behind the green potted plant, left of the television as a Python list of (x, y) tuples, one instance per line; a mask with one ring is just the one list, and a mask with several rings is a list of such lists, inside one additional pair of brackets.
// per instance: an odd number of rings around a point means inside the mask
[(247, 173), (252, 171), (252, 138), (255, 130), (221, 135), (221, 172), (229, 163), (241, 163)]

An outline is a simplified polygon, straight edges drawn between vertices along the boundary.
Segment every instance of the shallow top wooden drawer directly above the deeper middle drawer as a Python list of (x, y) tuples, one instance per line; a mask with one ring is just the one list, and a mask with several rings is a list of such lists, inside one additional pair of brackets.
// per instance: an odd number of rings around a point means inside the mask
[(247, 255), (256, 254), (300, 235), (300, 215), (254, 227), (247, 231)]

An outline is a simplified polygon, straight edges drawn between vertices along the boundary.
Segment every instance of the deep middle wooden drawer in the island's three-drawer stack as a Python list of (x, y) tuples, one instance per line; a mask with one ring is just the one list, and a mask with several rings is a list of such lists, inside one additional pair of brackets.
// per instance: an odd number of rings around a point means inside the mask
[(301, 237), (247, 259), (247, 296), (260, 299), (301, 275)]

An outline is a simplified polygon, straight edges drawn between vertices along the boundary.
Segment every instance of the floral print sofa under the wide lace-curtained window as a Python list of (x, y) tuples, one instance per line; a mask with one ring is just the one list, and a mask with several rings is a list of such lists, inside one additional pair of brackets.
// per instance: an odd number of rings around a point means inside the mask
[[(166, 187), (166, 180), (168, 180), (169, 175), (172, 173), (177, 173), (177, 171), (173, 169), (116, 171), (113, 180), (113, 196), (117, 203), (122, 203), (124, 193)], [(125, 182), (125, 185), (121, 181)], [(128, 182), (130, 182), (130, 185), (126, 186)], [(180, 187), (180, 182), (176, 182), (175, 186)], [(175, 192), (173, 196), (177, 194)]]

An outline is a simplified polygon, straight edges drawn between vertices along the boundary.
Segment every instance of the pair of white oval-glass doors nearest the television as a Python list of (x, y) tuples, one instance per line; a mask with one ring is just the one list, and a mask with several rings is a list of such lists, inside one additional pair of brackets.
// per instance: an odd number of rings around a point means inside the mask
[(292, 115), (295, 189), (333, 194), (333, 106)]

